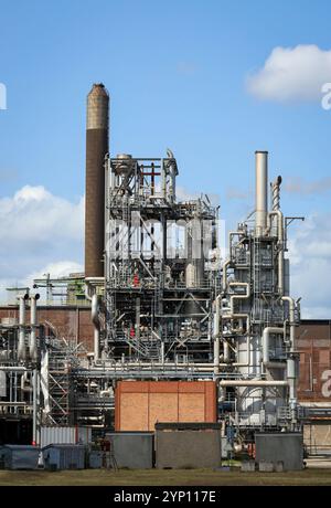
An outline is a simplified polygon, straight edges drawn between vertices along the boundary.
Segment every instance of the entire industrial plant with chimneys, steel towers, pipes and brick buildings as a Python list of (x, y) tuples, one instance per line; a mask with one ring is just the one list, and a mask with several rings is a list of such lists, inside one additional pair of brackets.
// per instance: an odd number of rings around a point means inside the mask
[(293, 470), (329, 422), (328, 404), (302, 395), (300, 356), (313, 379), (303, 331), (318, 324), (300, 320), (290, 292), (288, 237), (302, 218), (284, 214), (268, 152), (252, 154), (254, 211), (222, 245), (218, 207), (178, 199), (180, 167), (164, 151), (113, 154), (109, 95), (93, 85), (85, 272), (11, 288), (0, 308), (4, 466), (22, 447), (35, 467), (43, 453), (58, 468), (52, 447), (67, 446), (84, 449), (76, 467), (103, 467), (106, 451), (109, 467), (238, 457), (249, 470)]

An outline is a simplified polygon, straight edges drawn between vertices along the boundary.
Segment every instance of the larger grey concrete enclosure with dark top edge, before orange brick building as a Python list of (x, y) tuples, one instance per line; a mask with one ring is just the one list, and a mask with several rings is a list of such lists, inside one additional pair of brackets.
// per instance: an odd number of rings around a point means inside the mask
[(157, 431), (156, 467), (164, 469), (221, 466), (220, 431)]

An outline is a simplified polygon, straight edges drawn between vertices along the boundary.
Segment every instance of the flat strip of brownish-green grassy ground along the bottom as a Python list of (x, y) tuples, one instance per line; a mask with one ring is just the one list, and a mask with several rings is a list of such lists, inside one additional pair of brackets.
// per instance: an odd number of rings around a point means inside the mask
[[(320, 465), (322, 464), (322, 466)], [(331, 486), (331, 463), (308, 461), (308, 468), (296, 473), (242, 473), (236, 470), (125, 470), (118, 473), (105, 469), (66, 470), (49, 473), (0, 470), (0, 485), (115, 485), (115, 486), (222, 486), (222, 485), (329, 485)]]

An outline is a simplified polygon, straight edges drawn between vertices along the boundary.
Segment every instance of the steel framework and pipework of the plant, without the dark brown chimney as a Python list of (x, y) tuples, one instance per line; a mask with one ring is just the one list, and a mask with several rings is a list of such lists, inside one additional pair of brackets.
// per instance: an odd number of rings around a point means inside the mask
[(255, 216), (229, 232), (222, 260), (218, 208), (203, 195), (178, 201), (177, 177), (170, 151), (107, 157), (105, 277), (84, 288), (77, 275), (35, 282), (90, 305), (93, 352), (39, 324), (30, 293), (18, 297), (18, 322), (1, 325), (1, 411), (32, 414), (34, 440), (41, 424), (111, 428), (122, 379), (214, 380), (220, 419), (244, 435), (300, 427), (300, 305), (289, 295), (280, 179), (269, 210), (267, 154), (257, 152)]

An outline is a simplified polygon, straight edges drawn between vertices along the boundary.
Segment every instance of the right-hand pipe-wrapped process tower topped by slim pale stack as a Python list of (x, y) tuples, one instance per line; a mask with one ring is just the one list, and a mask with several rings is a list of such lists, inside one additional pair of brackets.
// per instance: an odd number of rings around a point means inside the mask
[(235, 423), (295, 430), (295, 327), (300, 311), (299, 301), (289, 296), (280, 183), (278, 177), (271, 184), (269, 211), (268, 154), (257, 151), (255, 223), (247, 220), (229, 232), (229, 257), (216, 298), (216, 336), (223, 345), (221, 394), (235, 402)]

